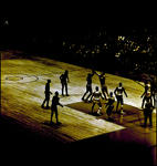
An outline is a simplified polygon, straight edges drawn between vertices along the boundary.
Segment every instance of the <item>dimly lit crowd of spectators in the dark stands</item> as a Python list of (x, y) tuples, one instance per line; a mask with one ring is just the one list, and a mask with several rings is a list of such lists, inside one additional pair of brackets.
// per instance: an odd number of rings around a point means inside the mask
[(82, 63), (105, 71), (114, 69), (121, 73), (127, 69), (126, 74), (137, 69), (156, 74), (156, 50), (157, 31), (148, 29), (130, 30), (125, 34), (104, 31), (63, 41), (65, 56), (81, 59)]

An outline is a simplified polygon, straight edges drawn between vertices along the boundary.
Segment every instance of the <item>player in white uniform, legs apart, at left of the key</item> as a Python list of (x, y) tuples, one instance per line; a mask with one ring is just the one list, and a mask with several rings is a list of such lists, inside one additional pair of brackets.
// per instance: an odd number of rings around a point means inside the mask
[(101, 115), (101, 110), (102, 110), (101, 98), (104, 100), (104, 97), (102, 96), (102, 93), (98, 91), (98, 86), (95, 87), (95, 91), (93, 92), (91, 100), (92, 98), (93, 98), (93, 106), (92, 106), (91, 113), (93, 113), (93, 108), (94, 108), (95, 104), (97, 104), (100, 106), (97, 114)]

